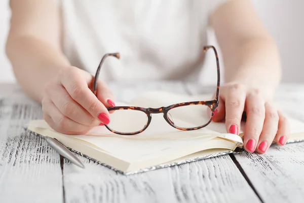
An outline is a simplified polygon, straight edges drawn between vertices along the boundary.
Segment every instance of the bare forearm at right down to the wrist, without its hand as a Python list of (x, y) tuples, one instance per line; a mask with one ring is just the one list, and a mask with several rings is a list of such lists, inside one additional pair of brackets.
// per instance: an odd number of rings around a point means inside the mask
[(227, 1), (215, 11), (211, 24), (223, 54), (225, 81), (267, 85), (272, 94), (281, 79), (279, 53), (250, 1)]

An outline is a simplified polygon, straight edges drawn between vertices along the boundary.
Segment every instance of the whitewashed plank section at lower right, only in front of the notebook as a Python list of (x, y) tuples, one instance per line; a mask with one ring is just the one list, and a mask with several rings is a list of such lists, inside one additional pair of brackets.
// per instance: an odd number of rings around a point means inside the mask
[(236, 155), (263, 202), (303, 202), (304, 143), (272, 146), (264, 155)]

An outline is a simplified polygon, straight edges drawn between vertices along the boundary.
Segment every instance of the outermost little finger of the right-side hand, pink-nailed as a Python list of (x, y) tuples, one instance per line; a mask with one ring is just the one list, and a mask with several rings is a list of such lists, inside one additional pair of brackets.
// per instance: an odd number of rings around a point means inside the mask
[(258, 153), (263, 154), (269, 149), (276, 136), (278, 123), (279, 115), (277, 108), (274, 104), (266, 103), (264, 125), (256, 149)]

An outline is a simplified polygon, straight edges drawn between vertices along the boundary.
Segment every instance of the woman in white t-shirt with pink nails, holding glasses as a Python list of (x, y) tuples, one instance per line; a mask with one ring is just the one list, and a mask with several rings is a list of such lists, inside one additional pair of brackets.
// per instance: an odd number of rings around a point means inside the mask
[[(59, 132), (84, 133), (110, 122), (106, 107), (115, 98), (107, 81), (197, 79), (210, 25), (226, 69), (213, 120), (225, 118), (227, 132), (238, 134), (246, 111), (248, 152), (287, 141), (289, 124), (273, 103), (278, 50), (249, 0), (11, 0), (10, 7), (7, 55), (15, 76)], [(88, 85), (100, 53), (109, 52), (124, 59), (107, 59), (95, 97)]]

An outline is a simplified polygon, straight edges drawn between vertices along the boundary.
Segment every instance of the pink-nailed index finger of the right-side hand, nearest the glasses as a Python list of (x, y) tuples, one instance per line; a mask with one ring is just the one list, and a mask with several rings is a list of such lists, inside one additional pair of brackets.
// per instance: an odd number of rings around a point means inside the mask
[(246, 93), (240, 86), (234, 86), (229, 90), (225, 98), (225, 126), (227, 132), (239, 134)]

